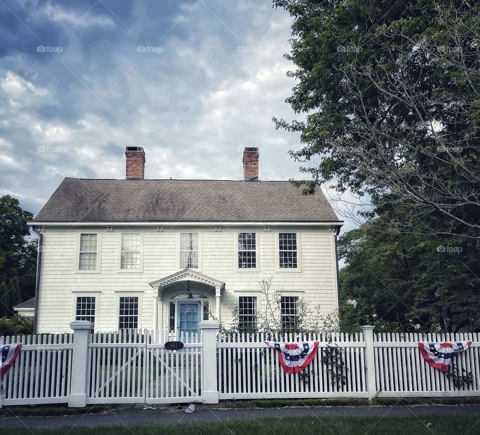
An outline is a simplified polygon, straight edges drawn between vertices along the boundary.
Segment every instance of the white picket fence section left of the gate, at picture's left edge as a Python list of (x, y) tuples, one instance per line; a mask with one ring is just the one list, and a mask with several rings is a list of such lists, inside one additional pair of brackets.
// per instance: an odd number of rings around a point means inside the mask
[(67, 402), (71, 384), (72, 342), (72, 334), (0, 337), (0, 346), (23, 344), (1, 379), (2, 403)]

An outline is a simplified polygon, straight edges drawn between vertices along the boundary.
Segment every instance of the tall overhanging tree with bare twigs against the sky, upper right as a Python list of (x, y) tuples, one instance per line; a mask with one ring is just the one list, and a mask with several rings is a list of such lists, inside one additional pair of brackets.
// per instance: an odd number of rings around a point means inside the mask
[[(389, 233), (480, 237), (480, 4), (273, 0), (294, 18), (290, 151)], [(311, 162), (311, 163), (310, 163)]]

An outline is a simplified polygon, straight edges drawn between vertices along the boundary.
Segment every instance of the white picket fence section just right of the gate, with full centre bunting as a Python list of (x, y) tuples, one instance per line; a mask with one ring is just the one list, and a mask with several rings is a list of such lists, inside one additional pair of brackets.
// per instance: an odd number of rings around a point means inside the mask
[[(218, 392), (222, 399), (273, 397), (367, 397), (364, 378), (364, 348), (361, 333), (285, 334), (263, 333), (220, 336), (218, 348)], [(311, 364), (301, 373), (287, 374), (275, 349), (265, 340), (319, 341)], [(345, 364), (345, 383), (334, 381), (340, 370), (321, 361), (325, 351), (339, 347)]]

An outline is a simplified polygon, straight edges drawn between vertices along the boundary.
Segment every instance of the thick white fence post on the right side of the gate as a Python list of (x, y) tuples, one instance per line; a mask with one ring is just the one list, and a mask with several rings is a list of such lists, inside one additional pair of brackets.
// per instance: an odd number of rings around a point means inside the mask
[(216, 330), (220, 323), (216, 320), (200, 321), (203, 350), (201, 353), (201, 397), (203, 403), (218, 403), (216, 381)]

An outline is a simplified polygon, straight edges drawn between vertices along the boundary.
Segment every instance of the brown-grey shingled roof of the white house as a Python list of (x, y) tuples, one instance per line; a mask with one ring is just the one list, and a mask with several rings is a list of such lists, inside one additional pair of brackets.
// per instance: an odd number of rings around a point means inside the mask
[(64, 178), (33, 222), (339, 222), (288, 181)]

